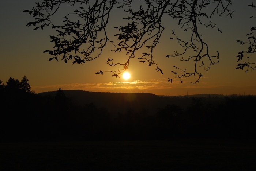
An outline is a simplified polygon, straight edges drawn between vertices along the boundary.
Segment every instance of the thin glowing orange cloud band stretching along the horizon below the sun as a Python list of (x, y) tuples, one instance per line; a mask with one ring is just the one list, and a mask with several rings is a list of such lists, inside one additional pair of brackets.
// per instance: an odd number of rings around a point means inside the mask
[(63, 90), (84, 90), (91, 92), (120, 92), (120, 93), (153, 93), (157, 95), (170, 95), (178, 96), (185, 95), (178, 94), (180, 89), (187, 90), (190, 95), (192, 94), (256, 94), (256, 88), (254, 86), (239, 87), (236, 84), (234, 86), (224, 86), (221, 83), (202, 82), (197, 85), (184, 81), (167, 82), (166, 79), (154, 79), (150, 81), (131, 81), (131, 82), (108, 82), (108, 83), (74, 83), (74, 84), (59, 84), (59, 85), (47, 85), (47, 86), (31, 86), (31, 90), (35, 93), (56, 91), (59, 88)]

